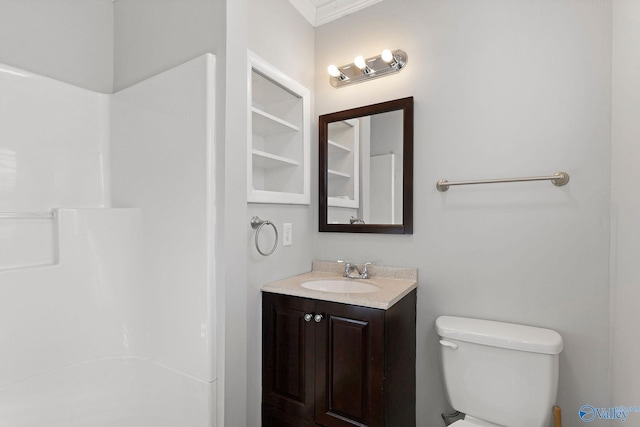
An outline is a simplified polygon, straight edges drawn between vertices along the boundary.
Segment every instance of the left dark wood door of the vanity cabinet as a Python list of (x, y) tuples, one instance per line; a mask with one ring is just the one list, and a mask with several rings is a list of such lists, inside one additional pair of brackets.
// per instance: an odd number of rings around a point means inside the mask
[(262, 301), (262, 402), (313, 420), (316, 324), (305, 315), (316, 302), (278, 294)]

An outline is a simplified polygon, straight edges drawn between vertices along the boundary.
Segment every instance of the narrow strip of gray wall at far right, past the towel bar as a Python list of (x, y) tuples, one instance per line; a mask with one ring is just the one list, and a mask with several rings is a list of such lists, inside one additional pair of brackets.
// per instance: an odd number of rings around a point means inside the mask
[[(640, 300), (640, 2), (614, 2), (611, 404), (638, 405)], [(627, 424), (638, 424), (630, 414)]]

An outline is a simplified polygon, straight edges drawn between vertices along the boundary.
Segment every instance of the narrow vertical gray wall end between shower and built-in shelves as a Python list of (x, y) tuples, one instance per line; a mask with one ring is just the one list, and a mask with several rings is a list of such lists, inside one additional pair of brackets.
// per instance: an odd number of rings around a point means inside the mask
[[(225, 292), (225, 405), (223, 426), (249, 426), (247, 414), (247, 323), (251, 314), (247, 304), (247, 245), (243, 239), (249, 228), (246, 196), (247, 153), (247, 0), (227, 0), (226, 90), (224, 151), (218, 157), (223, 179), (218, 194), (224, 195), (219, 207), (224, 226), (218, 254), (224, 260), (224, 277), (218, 282)], [(222, 145), (222, 144), (221, 144)]]

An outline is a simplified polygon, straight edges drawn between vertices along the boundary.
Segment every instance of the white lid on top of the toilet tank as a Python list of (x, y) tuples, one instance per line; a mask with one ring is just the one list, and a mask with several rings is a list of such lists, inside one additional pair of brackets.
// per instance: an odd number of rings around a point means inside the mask
[(442, 338), (532, 353), (558, 354), (562, 337), (551, 329), (468, 317), (440, 316), (436, 330)]

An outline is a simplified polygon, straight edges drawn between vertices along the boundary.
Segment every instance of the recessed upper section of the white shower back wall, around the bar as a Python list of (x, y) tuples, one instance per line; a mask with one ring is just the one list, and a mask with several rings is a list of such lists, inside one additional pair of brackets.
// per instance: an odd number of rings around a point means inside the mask
[[(0, 65), (0, 212), (109, 204), (109, 97)], [(51, 220), (0, 221), (0, 271), (54, 261)]]

